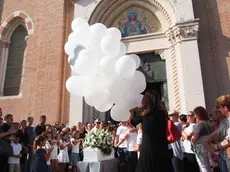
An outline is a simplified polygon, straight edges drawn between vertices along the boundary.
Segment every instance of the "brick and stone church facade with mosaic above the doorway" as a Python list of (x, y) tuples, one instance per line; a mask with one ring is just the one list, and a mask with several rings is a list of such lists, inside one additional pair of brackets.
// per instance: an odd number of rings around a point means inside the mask
[(65, 90), (71, 72), (63, 46), (74, 17), (120, 29), (127, 53), (141, 58), (147, 89), (168, 109), (211, 110), (216, 97), (230, 92), (227, 0), (27, 1), (0, 4), (0, 107), (18, 120), (28, 114), (70, 124), (105, 118)]

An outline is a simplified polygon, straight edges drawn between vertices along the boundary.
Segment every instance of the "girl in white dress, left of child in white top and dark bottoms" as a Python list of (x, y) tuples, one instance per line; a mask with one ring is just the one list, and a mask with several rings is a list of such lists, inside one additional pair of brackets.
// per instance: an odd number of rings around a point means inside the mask
[(66, 142), (67, 133), (60, 133), (58, 163), (59, 172), (65, 172), (67, 165), (69, 164), (68, 147), (71, 145), (70, 142)]

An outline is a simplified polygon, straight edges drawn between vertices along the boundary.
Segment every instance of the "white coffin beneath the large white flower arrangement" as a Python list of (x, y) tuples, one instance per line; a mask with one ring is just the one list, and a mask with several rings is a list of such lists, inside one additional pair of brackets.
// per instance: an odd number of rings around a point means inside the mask
[(114, 150), (111, 152), (109, 156), (104, 156), (100, 149), (88, 147), (84, 148), (83, 157), (84, 162), (99, 162), (114, 159)]

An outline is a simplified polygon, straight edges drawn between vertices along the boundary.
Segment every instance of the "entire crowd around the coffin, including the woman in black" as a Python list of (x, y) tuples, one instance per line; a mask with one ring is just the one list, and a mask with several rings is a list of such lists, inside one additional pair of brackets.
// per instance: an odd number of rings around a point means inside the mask
[[(230, 155), (230, 95), (216, 100), (211, 113), (196, 107), (187, 114), (166, 111), (159, 95), (145, 93), (142, 107), (130, 110), (130, 120), (66, 127), (46, 124), (46, 116), (33, 126), (29, 116), (20, 123), (13, 115), (0, 113), (0, 141), (13, 148), (12, 155), (1, 154), (1, 172), (77, 171), (83, 160), (83, 140), (93, 129), (111, 132), (120, 172), (228, 172)], [(181, 138), (167, 142), (167, 121), (171, 120)], [(1, 144), (1, 142), (0, 142)]]

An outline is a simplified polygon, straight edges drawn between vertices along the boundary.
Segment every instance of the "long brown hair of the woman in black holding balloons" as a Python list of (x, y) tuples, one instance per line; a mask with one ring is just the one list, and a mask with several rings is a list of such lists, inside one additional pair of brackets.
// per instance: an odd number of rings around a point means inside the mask
[(142, 99), (142, 115), (148, 114), (154, 108), (163, 110), (160, 95), (154, 90), (146, 91)]

